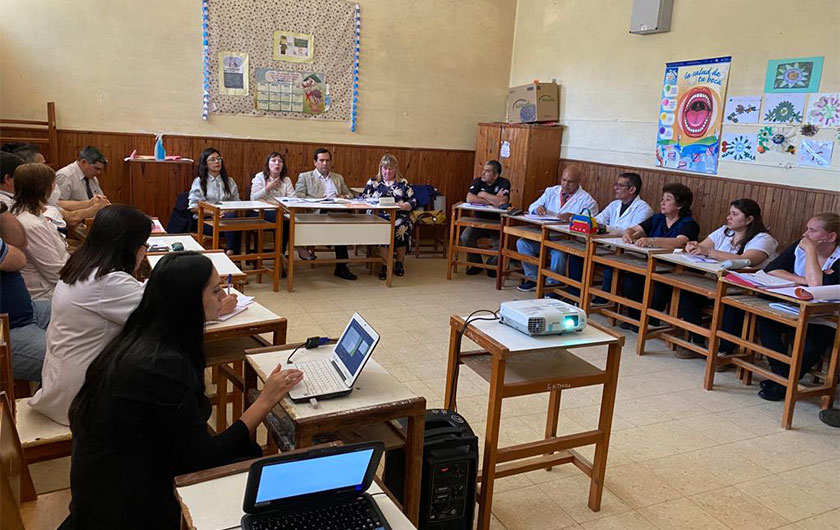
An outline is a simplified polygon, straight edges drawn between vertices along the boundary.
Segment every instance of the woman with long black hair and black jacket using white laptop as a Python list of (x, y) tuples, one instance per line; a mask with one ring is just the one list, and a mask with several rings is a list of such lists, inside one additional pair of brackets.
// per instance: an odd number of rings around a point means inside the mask
[(251, 436), (303, 374), (278, 366), (240, 419), (210, 434), (204, 323), (218, 318), (223, 297), (207, 257), (165, 256), (90, 365), (70, 409), (72, 528), (176, 530), (175, 476), (261, 456)]

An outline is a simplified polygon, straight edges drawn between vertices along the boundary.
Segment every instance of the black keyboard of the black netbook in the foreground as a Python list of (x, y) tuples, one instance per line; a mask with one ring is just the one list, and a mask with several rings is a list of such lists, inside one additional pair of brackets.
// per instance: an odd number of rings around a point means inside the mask
[(250, 530), (380, 530), (386, 526), (367, 497), (307, 512), (252, 519)]

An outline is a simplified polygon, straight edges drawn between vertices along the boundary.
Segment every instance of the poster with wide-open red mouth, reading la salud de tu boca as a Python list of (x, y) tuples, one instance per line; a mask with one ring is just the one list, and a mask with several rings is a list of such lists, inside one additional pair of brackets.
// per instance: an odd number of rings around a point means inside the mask
[(666, 63), (656, 165), (717, 173), (731, 57)]

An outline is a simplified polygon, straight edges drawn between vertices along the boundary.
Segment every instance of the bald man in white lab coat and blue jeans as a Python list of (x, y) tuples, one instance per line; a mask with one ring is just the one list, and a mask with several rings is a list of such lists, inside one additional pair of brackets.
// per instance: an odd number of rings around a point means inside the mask
[[(567, 166), (560, 176), (560, 185), (546, 188), (539, 199), (528, 207), (528, 213), (557, 217), (560, 221), (568, 223), (573, 215), (588, 212), (590, 215), (598, 213), (598, 203), (589, 193), (580, 187), (583, 174), (577, 166)], [(539, 256), (540, 244), (530, 239), (519, 239), (516, 241), (516, 250), (526, 256)], [(565, 269), (566, 255), (559, 250), (551, 251), (551, 270), (559, 272)], [(522, 262), (522, 269), (525, 278), (516, 287), (519, 291), (533, 291), (537, 287), (537, 266)], [(549, 279), (549, 284), (556, 283)]]

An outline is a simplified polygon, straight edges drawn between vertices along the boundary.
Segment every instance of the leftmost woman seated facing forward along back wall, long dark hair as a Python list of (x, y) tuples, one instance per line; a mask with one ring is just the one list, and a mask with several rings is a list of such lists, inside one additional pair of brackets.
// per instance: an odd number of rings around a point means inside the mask
[[(198, 228), (199, 202), (215, 204), (222, 201), (238, 200), (239, 189), (236, 187), (236, 181), (228, 176), (222, 155), (212, 147), (205, 149), (198, 158), (196, 177), (187, 197), (187, 207), (193, 212), (193, 220), (196, 223), (194, 229)], [(233, 215), (233, 213), (224, 214), (224, 217), (230, 215)], [(206, 225), (204, 225), (203, 230), (206, 235), (213, 233), (213, 229)], [(227, 253), (238, 253), (242, 243), (242, 232), (222, 232), (222, 235), (225, 238)]]

